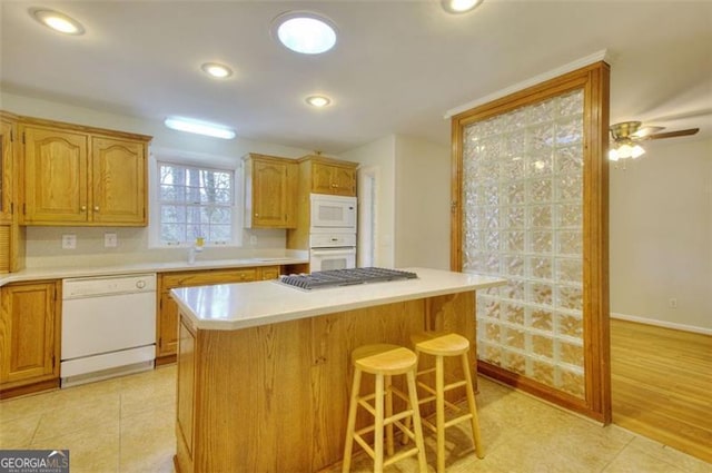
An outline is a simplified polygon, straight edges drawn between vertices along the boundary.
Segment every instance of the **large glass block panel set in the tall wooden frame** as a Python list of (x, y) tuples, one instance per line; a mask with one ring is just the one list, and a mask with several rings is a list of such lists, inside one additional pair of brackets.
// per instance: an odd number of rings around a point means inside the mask
[(477, 293), (477, 355), (581, 398), (583, 97), (463, 130), (463, 270), (508, 280)]

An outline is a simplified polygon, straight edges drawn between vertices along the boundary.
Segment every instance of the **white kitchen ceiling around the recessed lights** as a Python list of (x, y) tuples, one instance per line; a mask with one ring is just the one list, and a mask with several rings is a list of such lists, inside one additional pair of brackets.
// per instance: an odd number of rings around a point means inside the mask
[[(447, 144), (447, 110), (603, 49), (611, 122), (712, 136), (711, 1), (485, 0), (458, 16), (437, 0), (0, 3), (3, 91), (216, 121), (253, 140), (332, 155), (389, 134)], [(86, 33), (43, 28), (28, 13), (40, 6)], [(336, 47), (304, 56), (280, 46), (270, 22), (288, 10), (330, 18)], [(200, 70), (207, 61), (235, 75), (211, 79)], [(333, 105), (308, 107), (315, 92)]]

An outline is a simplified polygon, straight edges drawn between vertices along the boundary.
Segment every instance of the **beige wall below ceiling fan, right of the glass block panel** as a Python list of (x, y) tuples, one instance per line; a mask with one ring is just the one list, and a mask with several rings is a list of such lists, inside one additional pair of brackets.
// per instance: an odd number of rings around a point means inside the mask
[(611, 168), (611, 313), (712, 334), (712, 139), (645, 149)]

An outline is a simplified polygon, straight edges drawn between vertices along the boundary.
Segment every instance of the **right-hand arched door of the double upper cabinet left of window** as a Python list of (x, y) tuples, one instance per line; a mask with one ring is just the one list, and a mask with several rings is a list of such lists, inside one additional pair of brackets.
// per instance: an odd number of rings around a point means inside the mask
[(91, 162), (92, 221), (145, 226), (146, 145), (93, 136)]

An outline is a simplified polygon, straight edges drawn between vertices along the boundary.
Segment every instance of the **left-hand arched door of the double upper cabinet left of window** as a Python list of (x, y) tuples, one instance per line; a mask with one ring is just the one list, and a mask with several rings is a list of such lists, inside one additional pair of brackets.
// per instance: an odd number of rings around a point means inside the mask
[(87, 221), (87, 135), (23, 127), (27, 224)]

